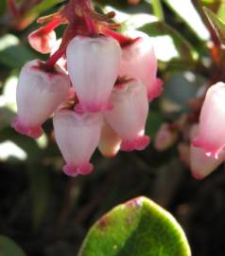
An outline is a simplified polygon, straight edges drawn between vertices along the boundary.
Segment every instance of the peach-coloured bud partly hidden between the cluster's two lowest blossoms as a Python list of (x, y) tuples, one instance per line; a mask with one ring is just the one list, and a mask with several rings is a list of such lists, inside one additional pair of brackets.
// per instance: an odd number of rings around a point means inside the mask
[(120, 149), (121, 138), (115, 133), (113, 128), (104, 121), (98, 150), (105, 157), (115, 156)]

